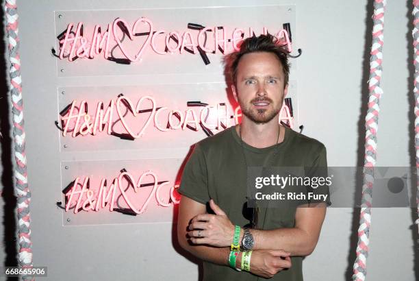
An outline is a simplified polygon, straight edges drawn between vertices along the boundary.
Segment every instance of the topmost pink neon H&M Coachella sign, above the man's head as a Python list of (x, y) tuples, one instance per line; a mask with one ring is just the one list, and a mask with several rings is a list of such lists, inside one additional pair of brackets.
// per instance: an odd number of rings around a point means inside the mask
[[(224, 26), (203, 27), (201, 30), (184, 32), (166, 32), (165, 29), (155, 29), (153, 22), (145, 17), (137, 19), (133, 25), (130, 25), (125, 19), (115, 19), (107, 25), (105, 32), (100, 25), (94, 25), (92, 35), (84, 34), (83, 26), (82, 22), (77, 25), (75, 23), (68, 24), (65, 35), (63, 34), (63, 37), (59, 38), (60, 55), (58, 57), (61, 60), (67, 58), (69, 62), (72, 62), (75, 58), (92, 59), (101, 53), (107, 59), (110, 58), (110, 49), (114, 45), (118, 46), (123, 56), (130, 62), (141, 60), (144, 52), (149, 48), (159, 55), (182, 54), (186, 48), (191, 53), (198, 53), (198, 49), (205, 53), (227, 53), (233, 50), (237, 51), (240, 42), (246, 36), (255, 34), (252, 27), (246, 29), (246, 32), (242, 28), (235, 28), (229, 32)], [(74, 28), (75, 31), (73, 31)], [(263, 33), (268, 33), (266, 27), (263, 27)], [(144, 42), (133, 48), (132, 41), (139, 34), (147, 37)], [(123, 42), (125, 35), (131, 42)], [(285, 29), (281, 29), (274, 35), (287, 45), (289, 52), (292, 51), (288, 32)]]

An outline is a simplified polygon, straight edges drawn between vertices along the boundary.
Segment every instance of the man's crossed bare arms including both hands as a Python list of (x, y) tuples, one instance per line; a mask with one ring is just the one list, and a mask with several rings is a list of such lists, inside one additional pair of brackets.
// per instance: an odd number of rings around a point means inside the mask
[[(181, 197), (177, 225), (179, 244), (194, 256), (227, 266), (234, 225), (213, 200), (210, 201), (210, 207), (215, 215), (206, 214), (204, 204)], [(297, 208), (294, 228), (251, 230), (255, 240), (251, 272), (270, 278), (282, 269), (291, 267), (290, 256), (311, 254), (326, 213), (325, 206), (318, 207)], [(203, 238), (199, 238), (199, 230)], [(240, 241), (242, 236), (243, 231)], [(238, 264), (240, 260), (241, 256), (238, 256)]]

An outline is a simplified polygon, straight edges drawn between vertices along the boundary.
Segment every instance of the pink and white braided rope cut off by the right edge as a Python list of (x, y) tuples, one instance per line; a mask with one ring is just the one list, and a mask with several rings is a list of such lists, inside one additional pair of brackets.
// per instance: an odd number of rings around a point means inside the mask
[[(419, 0), (414, 0), (414, 10), (412, 14), (414, 15), (414, 29), (411, 32), (411, 35), (414, 38), (414, 66), (415, 66), (415, 81), (414, 81), (414, 95), (415, 95), (415, 145), (416, 145), (416, 171), (419, 167)], [(416, 204), (418, 204), (418, 216), (419, 216), (419, 177), (416, 179), (416, 186), (418, 191), (416, 191)], [(416, 219), (416, 224), (418, 225), (419, 233), (419, 219)], [(418, 241), (419, 242), (419, 241)]]

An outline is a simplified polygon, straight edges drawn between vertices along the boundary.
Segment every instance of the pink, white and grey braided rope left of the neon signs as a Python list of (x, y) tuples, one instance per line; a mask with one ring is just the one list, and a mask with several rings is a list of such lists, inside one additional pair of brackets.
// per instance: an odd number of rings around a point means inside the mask
[[(7, 22), (8, 50), (10, 57), (10, 93), (12, 96), (14, 158), (16, 160), (15, 191), (17, 195), (18, 215), (18, 261), (22, 268), (32, 267), (32, 243), (29, 203), (31, 193), (27, 184), (25, 130), (23, 120), (23, 100), (21, 86), (21, 60), (19, 58), (18, 13), (16, 0), (5, 0), (5, 17)], [(30, 279), (23, 276), (23, 279)]]

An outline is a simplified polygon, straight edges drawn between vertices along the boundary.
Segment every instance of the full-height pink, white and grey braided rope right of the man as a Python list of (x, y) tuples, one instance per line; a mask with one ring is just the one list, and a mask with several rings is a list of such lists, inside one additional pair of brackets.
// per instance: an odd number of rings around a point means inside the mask
[(374, 184), (374, 167), (377, 160), (377, 130), (379, 103), (383, 90), (380, 87), (383, 58), (383, 27), (385, 0), (374, 0), (372, 20), (372, 47), (370, 58), (370, 80), (368, 112), (366, 115), (366, 143), (364, 160), (364, 184), (362, 186), (361, 215), (358, 228), (357, 258), (353, 265), (353, 280), (364, 281), (366, 278), (366, 260), (370, 243), (370, 223), (372, 206), (372, 185)]

